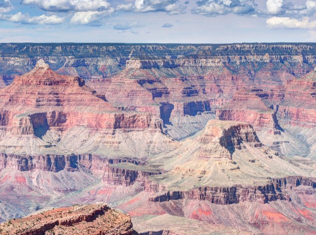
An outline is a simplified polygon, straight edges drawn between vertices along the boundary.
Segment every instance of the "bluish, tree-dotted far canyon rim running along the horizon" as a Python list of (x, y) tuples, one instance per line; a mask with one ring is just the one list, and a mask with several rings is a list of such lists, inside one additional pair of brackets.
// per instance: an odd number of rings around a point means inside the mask
[[(302, 75), (315, 64), (313, 43), (254, 44), (28, 44), (0, 45), (1, 75), (29, 71), (39, 59), (51, 61), (52, 68), (84, 78), (102, 78), (129, 68), (214, 67), (243, 63), (283, 65)], [(132, 52), (132, 53), (131, 53)], [(131, 60), (136, 58), (138, 60)], [(12, 66), (14, 65), (14, 66)], [(303, 66), (302, 66), (303, 65)], [(276, 67), (275, 67), (276, 68)], [(276, 70), (276, 69), (275, 69)]]

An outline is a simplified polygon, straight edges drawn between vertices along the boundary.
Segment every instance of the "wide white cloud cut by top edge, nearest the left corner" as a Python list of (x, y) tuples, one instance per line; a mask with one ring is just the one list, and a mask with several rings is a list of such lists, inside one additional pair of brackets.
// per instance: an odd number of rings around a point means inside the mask
[(110, 7), (106, 0), (22, 0), (46, 11), (104, 11)]

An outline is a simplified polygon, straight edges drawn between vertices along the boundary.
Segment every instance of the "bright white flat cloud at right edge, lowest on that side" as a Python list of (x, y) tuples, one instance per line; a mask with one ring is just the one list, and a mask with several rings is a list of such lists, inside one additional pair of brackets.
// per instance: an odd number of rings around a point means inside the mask
[(301, 20), (290, 17), (272, 17), (266, 20), (267, 26), (272, 29), (316, 29), (316, 21), (310, 21), (309, 17)]

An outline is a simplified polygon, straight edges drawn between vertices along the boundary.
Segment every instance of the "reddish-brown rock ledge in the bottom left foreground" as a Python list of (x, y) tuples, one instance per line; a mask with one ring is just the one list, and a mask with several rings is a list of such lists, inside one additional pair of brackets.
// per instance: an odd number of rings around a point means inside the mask
[(129, 215), (105, 203), (52, 209), (0, 225), (2, 235), (132, 235)]

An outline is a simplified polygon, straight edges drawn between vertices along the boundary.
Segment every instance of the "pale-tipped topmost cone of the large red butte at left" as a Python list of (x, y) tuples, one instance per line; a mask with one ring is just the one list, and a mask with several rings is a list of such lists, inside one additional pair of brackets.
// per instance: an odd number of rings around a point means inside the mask
[(39, 60), (36, 66), (22, 76), (17, 76), (13, 80), (19, 85), (46, 85), (46, 86), (80, 86), (84, 85), (83, 78), (62, 75), (50, 69), (43, 60)]

